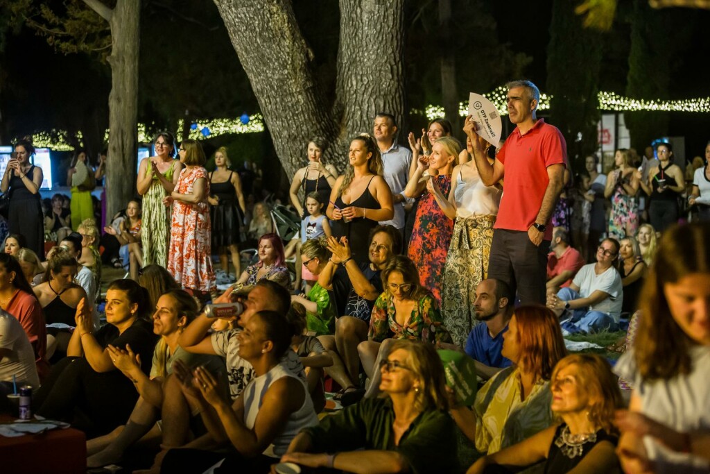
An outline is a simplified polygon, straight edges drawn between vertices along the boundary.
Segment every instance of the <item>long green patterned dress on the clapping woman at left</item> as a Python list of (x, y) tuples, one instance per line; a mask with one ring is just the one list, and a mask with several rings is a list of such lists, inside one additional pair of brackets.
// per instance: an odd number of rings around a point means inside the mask
[[(173, 181), (173, 168), (175, 162), (173, 160), (163, 176), (168, 181)], [(146, 173), (153, 173), (153, 163), (148, 160)], [(170, 244), (170, 208), (163, 205), (163, 198), (168, 193), (160, 184), (158, 178), (153, 176), (153, 183), (148, 188), (148, 192), (143, 196), (143, 234), (141, 234), (141, 242), (143, 243), (143, 266), (157, 264), (160, 266), (168, 266), (168, 244)]]

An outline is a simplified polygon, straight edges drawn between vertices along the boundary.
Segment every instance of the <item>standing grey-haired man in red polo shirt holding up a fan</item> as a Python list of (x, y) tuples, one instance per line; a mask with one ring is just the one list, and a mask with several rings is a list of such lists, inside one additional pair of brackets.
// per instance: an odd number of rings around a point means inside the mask
[(466, 118), (464, 131), (474, 146), (481, 181), (490, 186), (505, 178), (493, 227), (488, 278), (505, 281), (520, 303), (545, 304), (550, 217), (562, 191), (567, 144), (559, 130), (535, 117), (540, 90), (528, 80), (508, 82), (508, 116), (516, 124), (491, 165), (487, 142)]

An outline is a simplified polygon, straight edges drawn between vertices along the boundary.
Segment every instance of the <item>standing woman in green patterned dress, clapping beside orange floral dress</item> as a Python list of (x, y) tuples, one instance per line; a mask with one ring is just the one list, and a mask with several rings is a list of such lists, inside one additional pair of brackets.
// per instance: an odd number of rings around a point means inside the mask
[(138, 194), (143, 196), (143, 265), (168, 266), (170, 244), (170, 208), (163, 205), (178, 183), (182, 170), (175, 160), (175, 138), (168, 131), (155, 136), (155, 156), (143, 158), (138, 168)]

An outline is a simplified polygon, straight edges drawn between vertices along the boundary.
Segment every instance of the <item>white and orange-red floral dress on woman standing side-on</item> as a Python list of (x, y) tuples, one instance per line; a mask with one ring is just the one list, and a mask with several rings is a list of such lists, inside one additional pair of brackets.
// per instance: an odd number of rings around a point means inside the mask
[[(209, 195), (207, 170), (201, 166), (180, 171), (175, 192), (192, 193), (195, 181), (200, 178), (207, 181), (205, 195)], [(206, 201), (197, 204), (183, 203), (179, 200), (173, 202), (168, 271), (184, 289), (197, 291), (215, 289), (210, 234), (209, 204)]]

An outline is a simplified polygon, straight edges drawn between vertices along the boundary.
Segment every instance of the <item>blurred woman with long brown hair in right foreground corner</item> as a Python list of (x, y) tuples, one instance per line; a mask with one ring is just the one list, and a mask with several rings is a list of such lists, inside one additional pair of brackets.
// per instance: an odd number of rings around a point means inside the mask
[[(629, 410), (636, 427), (621, 424), (619, 456), (628, 473), (707, 473), (694, 435), (710, 431), (710, 225), (670, 227), (639, 298), (633, 348), (614, 372), (633, 383)], [(620, 418), (626, 419), (626, 412)], [(649, 419), (680, 436), (647, 436)], [(654, 430), (655, 431), (655, 430)], [(681, 451), (681, 452), (674, 452)]]

